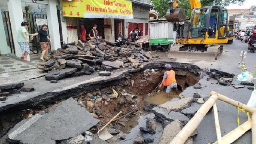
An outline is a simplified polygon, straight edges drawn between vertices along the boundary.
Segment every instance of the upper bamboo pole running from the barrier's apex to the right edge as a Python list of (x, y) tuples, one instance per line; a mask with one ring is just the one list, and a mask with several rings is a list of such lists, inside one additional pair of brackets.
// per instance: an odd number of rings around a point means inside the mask
[(247, 112), (249, 112), (249, 113), (251, 113), (251, 114), (252, 114), (252, 113), (256, 113), (256, 109), (253, 108), (253, 107), (250, 107), (250, 106), (248, 106), (248, 105), (245, 105), (245, 104), (243, 104), (243, 103), (240, 103), (239, 101), (235, 101), (235, 100), (233, 100), (233, 99), (231, 99), (231, 98), (228, 98), (228, 97), (225, 96), (225, 95), (218, 94), (218, 93), (212, 91), (212, 92), (210, 93), (210, 95), (213, 95), (213, 94), (217, 95), (217, 96), (218, 96), (218, 99), (221, 100), (221, 101), (224, 101), (224, 102), (226, 102), (226, 103), (228, 103), (228, 104), (231, 104), (231, 105), (234, 105), (234, 106), (236, 106), (236, 107), (238, 107), (238, 105), (239, 105), (240, 108), (244, 109), (245, 111), (247, 111)]

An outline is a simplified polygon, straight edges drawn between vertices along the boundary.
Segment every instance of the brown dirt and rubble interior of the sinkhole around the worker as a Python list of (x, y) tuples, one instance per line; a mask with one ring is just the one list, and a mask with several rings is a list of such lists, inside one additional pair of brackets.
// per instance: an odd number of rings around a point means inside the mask
[[(122, 79), (121, 84), (81, 94), (77, 101), (86, 107), (93, 116), (99, 118), (102, 124), (108, 122), (119, 111), (122, 111), (122, 115), (134, 111), (112, 122), (113, 126), (119, 127), (124, 133), (129, 133), (138, 124), (138, 118), (148, 114), (143, 109), (144, 106), (160, 105), (179, 96), (175, 90), (172, 90), (171, 98), (167, 98), (166, 88), (157, 89), (156, 92), (152, 93), (162, 81), (165, 71), (164, 69), (148, 69), (142, 72), (129, 73)], [(175, 69), (174, 71), (180, 93), (200, 80), (200, 69), (197, 72)], [(119, 93), (117, 98), (113, 95), (113, 90)], [(125, 94), (122, 94), (123, 91)], [(98, 125), (101, 126), (102, 124)], [(97, 131), (97, 128), (95, 130)]]

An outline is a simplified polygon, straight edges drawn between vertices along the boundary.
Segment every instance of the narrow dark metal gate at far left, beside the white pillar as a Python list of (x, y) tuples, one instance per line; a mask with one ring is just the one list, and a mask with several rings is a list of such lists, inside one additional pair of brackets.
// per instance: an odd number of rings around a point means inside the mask
[(6, 34), (7, 45), (10, 47), (11, 53), (15, 54), (9, 12), (8, 11), (3, 11), (3, 12), (1, 12), (1, 15), (3, 17), (3, 23), (4, 23), (5, 34)]

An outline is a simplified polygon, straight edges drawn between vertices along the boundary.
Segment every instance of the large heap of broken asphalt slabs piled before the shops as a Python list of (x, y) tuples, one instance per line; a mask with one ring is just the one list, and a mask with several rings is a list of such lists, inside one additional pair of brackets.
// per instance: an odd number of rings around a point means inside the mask
[[(90, 75), (95, 71), (143, 68), (144, 62), (152, 60), (149, 52), (133, 44), (117, 47), (114, 43), (104, 41), (96, 44), (95, 40), (87, 43), (79, 40), (78, 45), (64, 44), (62, 48), (52, 51), (49, 61), (39, 62), (38, 69), (51, 70), (45, 76), (46, 80), (59, 80), (69, 75)], [(111, 73), (99, 72), (99, 75), (109, 76)]]

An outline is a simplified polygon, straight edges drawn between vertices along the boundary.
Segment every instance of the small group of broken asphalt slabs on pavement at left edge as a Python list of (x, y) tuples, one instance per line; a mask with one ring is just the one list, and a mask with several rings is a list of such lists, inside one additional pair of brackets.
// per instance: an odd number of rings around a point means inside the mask
[(7, 96), (11, 94), (20, 94), (21, 92), (31, 92), (34, 90), (33, 86), (24, 86), (24, 82), (2, 84), (0, 85), (0, 101), (5, 101)]

